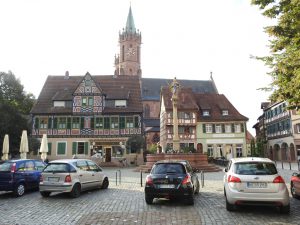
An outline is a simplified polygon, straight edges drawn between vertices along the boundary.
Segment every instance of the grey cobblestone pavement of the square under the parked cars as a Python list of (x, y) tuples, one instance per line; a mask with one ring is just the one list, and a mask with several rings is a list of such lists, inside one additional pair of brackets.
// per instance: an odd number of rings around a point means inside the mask
[[(286, 182), (297, 170), (297, 167), (289, 170), (277, 166)], [(290, 215), (279, 214), (278, 210), (267, 207), (244, 207), (227, 212), (223, 172), (206, 173), (204, 187), (195, 197), (195, 205), (187, 206), (183, 202), (162, 199), (147, 205), (139, 172), (134, 172), (133, 168), (120, 169), (120, 184), (119, 169), (104, 170), (110, 178), (109, 188), (85, 192), (76, 199), (64, 194), (42, 198), (39, 192), (30, 192), (21, 198), (0, 193), (0, 225), (300, 224), (300, 200), (292, 198)], [(144, 182), (146, 174), (142, 176)]]

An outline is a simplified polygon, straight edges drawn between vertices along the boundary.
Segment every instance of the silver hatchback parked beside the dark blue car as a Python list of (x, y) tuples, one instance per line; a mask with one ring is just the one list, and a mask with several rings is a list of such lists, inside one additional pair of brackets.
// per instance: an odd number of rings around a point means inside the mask
[(40, 193), (66, 192), (72, 197), (88, 189), (108, 188), (108, 177), (93, 161), (87, 159), (54, 160), (48, 163), (40, 179)]

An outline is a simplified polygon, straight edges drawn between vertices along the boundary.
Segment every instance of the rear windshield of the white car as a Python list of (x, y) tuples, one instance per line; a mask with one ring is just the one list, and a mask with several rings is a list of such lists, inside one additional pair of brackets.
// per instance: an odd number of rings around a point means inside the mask
[(240, 175), (273, 175), (277, 169), (269, 162), (243, 162), (234, 164), (234, 172)]

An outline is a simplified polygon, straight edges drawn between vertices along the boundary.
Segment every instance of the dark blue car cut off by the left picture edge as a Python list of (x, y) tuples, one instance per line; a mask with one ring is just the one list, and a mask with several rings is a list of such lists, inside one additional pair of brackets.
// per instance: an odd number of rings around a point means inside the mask
[(17, 159), (0, 163), (0, 191), (22, 196), (27, 190), (38, 190), (41, 172), (46, 164), (40, 160)]

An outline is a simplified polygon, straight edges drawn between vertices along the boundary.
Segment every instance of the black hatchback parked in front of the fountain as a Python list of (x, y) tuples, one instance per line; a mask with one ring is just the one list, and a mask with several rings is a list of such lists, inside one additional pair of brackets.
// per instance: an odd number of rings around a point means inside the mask
[(154, 198), (179, 198), (193, 205), (199, 189), (198, 176), (188, 161), (158, 161), (146, 177), (145, 200), (152, 204)]

